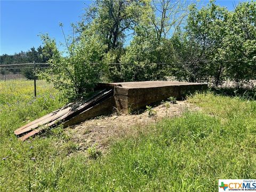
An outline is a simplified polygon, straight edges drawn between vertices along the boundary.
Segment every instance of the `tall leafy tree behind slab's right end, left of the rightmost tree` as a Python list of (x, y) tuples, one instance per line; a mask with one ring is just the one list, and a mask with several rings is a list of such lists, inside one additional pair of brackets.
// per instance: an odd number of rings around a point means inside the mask
[[(178, 73), (184, 73), (189, 82), (221, 81), (223, 72), (222, 42), (226, 34), (228, 11), (211, 1), (197, 9), (190, 5), (185, 33), (180, 37), (177, 49), (181, 63)], [(183, 76), (184, 76), (183, 75)]]

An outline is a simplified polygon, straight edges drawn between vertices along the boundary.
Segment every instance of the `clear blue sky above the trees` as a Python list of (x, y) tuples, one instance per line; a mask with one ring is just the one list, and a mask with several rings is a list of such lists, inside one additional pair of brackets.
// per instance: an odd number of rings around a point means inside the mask
[[(209, 1), (199, 1), (204, 5)], [(238, 0), (217, 0), (217, 4), (233, 10)], [(0, 0), (0, 55), (27, 51), (42, 44), (40, 33), (48, 33), (63, 42), (59, 22), (66, 34), (71, 34), (70, 23), (79, 21), (84, 7), (92, 1), (10, 1)]]

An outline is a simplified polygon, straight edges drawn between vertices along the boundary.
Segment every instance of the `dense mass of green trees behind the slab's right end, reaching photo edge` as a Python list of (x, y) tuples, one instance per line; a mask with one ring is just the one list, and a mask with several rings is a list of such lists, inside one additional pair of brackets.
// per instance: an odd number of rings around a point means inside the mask
[(176, 76), (216, 86), (227, 78), (237, 86), (255, 79), (255, 21), (256, 2), (239, 3), (234, 11), (214, 2), (200, 10), (191, 5), (185, 31), (176, 37), (174, 50), (183, 62)]

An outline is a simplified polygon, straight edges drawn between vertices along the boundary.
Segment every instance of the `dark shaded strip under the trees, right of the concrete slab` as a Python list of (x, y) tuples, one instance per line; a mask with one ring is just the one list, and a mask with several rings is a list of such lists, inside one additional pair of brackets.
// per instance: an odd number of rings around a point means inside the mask
[(245, 100), (256, 100), (256, 87), (249, 88), (239, 88), (234, 87), (223, 87), (223, 88), (211, 88), (210, 89), (216, 95), (223, 95), (228, 97), (239, 97)]

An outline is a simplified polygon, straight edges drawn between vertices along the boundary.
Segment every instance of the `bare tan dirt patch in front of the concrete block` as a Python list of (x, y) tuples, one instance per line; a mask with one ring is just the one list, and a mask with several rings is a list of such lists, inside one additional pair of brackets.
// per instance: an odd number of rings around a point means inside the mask
[(72, 141), (77, 143), (80, 151), (86, 151), (87, 148), (95, 146), (104, 152), (111, 141), (126, 135), (137, 134), (138, 127), (147, 127), (147, 125), (166, 117), (179, 116), (185, 110), (195, 111), (199, 109), (188, 101), (177, 101), (176, 104), (165, 102), (151, 109), (153, 110), (151, 112), (155, 114), (151, 117), (149, 111), (144, 111), (138, 115), (112, 114), (70, 126), (65, 132)]

